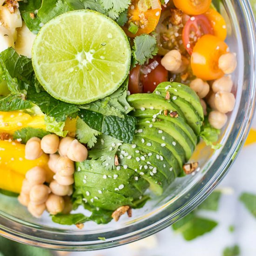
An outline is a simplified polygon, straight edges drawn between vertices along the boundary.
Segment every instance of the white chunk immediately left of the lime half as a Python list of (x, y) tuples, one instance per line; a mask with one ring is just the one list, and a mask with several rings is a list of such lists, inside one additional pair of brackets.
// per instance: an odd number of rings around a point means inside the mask
[(18, 37), (15, 44), (15, 50), (18, 54), (31, 58), (32, 45), (36, 35), (33, 34), (23, 23), (23, 26), (18, 28)]

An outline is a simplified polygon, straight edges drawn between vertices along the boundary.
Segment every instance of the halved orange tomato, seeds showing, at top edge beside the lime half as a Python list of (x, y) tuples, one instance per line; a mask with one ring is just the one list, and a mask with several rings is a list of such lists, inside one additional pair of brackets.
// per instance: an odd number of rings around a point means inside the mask
[[(149, 34), (155, 30), (160, 14), (160, 0), (132, 0), (128, 8), (128, 21), (124, 25), (123, 30), (129, 37)], [(130, 29), (131, 27), (133, 29)]]

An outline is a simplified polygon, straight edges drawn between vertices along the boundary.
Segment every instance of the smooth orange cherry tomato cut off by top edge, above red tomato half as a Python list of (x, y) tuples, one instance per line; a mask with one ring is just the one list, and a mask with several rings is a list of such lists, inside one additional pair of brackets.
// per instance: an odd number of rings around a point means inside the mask
[(173, 2), (176, 8), (189, 15), (205, 13), (211, 5), (211, 0), (173, 0)]

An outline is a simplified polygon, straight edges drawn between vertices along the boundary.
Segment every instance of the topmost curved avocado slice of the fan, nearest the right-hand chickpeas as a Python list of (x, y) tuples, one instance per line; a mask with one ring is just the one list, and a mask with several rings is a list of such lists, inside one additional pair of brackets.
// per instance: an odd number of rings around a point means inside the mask
[(204, 120), (200, 98), (191, 88), (189, 88), (189, 86), (175, 82), (162, 82), (157, 86), (155, 92), (158, 91), (162, 97), (165, 97), (167, 90), (170, 94), (188, 101), (195, 108), (196, 113), (201, 117), (201, 121)]

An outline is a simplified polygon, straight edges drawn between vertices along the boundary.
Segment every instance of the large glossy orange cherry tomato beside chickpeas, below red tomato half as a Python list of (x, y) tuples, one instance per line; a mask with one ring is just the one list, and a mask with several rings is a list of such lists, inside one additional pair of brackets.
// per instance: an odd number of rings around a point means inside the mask
[(219, 58), (226, 54), (228, 45), (215, 35), (206, 34), (195, 44), (191, 55), (191, 68), (196, 77), (202, 80), (221, 78), (224, 73), (219, 68)]

